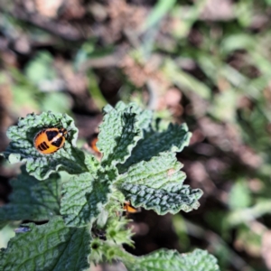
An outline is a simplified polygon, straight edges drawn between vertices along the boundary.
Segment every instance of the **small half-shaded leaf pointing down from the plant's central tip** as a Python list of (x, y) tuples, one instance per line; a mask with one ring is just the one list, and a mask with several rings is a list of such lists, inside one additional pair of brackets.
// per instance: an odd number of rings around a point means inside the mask
[(82, 173), (64, 183), (61, 214), (65, 223), (82, 227), (97, 219), (107, 204), (111, 182), (116, 177), (116, 169), (100, 168), (98, 172)]

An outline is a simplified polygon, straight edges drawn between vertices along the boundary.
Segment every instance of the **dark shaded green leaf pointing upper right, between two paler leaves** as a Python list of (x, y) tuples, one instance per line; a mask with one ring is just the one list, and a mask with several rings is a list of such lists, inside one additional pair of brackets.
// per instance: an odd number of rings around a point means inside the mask
[(181, 152), (183, 147), (189, 144), (191, 135), (185, 124), (182, 126), (170, 124), (163, 132), (152, 130), (145, 133), (144, 138), (137, 143), (126, 163), (119, 164), (117, 168), (120, 173), (123, 173), (132, 164), (143, 160), (148, 161), (159, 153)]

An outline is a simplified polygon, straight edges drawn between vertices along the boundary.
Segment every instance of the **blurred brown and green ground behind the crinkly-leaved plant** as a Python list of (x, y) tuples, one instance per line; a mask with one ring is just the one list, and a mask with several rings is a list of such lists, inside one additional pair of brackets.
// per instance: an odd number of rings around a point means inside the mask
[[(271, 270), (270, 16), (271, 0), (1, 0), (0, 151), (32, 112), (74, 117), (84, 148), (118, 100), (186, 122), (178, 159), (201, 207), (130, 214), (126, 249), (202, 248), (221, 270)], [(17, 173), (1, 158), (0, 206)]]

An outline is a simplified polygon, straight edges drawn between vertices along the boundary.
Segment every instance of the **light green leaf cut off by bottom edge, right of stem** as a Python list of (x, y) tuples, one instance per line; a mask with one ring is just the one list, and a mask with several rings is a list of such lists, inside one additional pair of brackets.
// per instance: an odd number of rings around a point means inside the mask
[(176, 250), (161, 249), (147, 256), (137, 257), (135, 262), (126, 260), (124, 263), (129, 271), (220, 270), (217, 265), (217, 259), (201, 249), (196, 249), (188, 254), (179, 254)]

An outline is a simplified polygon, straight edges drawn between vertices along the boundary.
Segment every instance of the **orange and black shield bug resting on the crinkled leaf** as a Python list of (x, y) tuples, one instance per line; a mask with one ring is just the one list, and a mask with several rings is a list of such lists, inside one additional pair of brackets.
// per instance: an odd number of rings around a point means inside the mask
[(53, 154), (65, 143), (68, 130), (65, 128), (42, 129), (33, 139), (33, 145), (41, 154)]

